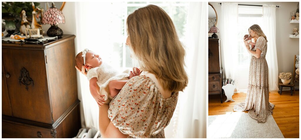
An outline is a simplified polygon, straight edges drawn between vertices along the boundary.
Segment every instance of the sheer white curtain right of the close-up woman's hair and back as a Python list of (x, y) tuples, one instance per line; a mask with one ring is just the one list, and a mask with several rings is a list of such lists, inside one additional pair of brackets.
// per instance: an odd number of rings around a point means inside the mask
[(165, 129), (166, 135), (173, 133), (172, 138), (206, 138), (207, 5), (189, 4), (185, 44), (189, 81), (184, 93), (179, 94), (171, 123)]

